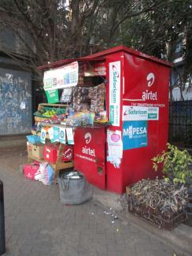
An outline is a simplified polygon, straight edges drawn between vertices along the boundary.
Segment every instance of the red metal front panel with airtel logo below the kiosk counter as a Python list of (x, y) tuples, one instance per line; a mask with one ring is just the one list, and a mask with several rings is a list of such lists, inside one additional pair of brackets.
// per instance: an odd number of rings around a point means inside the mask
[(105, 189), (105, 128), (76, 128), (74, 144), (75, 169)]

